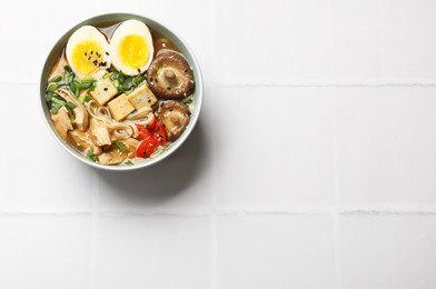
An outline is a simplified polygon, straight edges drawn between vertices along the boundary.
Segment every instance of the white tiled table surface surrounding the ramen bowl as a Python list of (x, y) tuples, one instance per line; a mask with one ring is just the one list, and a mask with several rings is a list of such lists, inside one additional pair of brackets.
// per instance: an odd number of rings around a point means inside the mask
[[(69, 157), (38, 108), (56, 40), (119, 11), (179, 32), (206, 86), (179, 151), (122, 175)], [(435, 16), (434, 0), (3, 3), (0, 288), (436, 288)]]

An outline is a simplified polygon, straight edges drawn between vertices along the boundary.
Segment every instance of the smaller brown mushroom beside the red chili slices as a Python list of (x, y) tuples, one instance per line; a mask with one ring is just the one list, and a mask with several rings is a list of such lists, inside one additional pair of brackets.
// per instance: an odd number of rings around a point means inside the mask
[(169, 141), (177, 140), (190, 121), (188, 107), (177, 100), (160, 102), (158, 118), (165, 126)]

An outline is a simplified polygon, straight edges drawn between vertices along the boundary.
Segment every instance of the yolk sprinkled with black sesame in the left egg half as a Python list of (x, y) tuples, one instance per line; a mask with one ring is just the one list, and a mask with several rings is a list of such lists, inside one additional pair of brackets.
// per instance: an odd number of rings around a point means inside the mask
[(91, 74), (98, 68), (102, 59), (102, 49), (98, 42), (82, 41), (72, 50), (72, 62), (82, 74)]

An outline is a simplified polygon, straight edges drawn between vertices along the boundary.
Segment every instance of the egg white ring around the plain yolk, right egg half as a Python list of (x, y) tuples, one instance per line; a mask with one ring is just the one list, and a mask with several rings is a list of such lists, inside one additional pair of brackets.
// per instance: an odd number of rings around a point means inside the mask
[[(128, 36), (137, 36), (145, 40), (148, 48), (148, 58), (147, 62), (139, 68), (130, 67), (122, 62), (121, 57), (119, 54), (121, 41)], [(122, 22), (117, 30), (113, 32), (112, 38), (110, 40), (110, 58), (112, 66), (122, 71), (122, 73), (127, 76), (136, 76), (142, 73), (150, 66), (152, 56), (153, 56), (153, 44), (150, 30), (148, 27), (138, 20), (131, 19)]]

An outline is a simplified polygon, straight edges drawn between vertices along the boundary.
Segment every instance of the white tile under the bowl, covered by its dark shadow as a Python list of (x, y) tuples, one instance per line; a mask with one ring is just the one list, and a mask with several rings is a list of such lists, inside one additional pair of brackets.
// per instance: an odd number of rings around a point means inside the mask
[(206, 100), (189, 138), (164, 161), (128, 173), (98, 171), (99, 208), (207, 211), (212, 191), (211, 109)]

